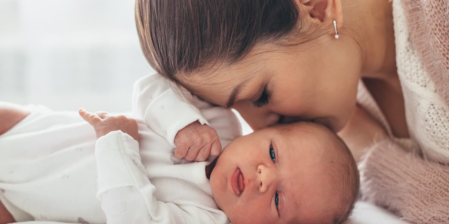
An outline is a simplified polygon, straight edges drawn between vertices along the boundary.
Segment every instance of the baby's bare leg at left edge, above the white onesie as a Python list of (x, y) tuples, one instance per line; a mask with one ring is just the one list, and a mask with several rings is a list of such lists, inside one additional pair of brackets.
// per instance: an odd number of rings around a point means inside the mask
[(29, 114), (30, 112), (21, 105), (0, 102), (0, 135), (11, 129)]

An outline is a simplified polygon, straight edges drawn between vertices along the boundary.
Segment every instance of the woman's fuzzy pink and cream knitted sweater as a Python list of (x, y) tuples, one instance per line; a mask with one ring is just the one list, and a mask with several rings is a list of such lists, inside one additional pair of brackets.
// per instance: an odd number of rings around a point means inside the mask
[(420, 224), (449, 223), (449, 0), (392, 0), (410, 138), (395, 138), (361, 83), (357, 100), (390, 138), (360, 164), (361, 193)]

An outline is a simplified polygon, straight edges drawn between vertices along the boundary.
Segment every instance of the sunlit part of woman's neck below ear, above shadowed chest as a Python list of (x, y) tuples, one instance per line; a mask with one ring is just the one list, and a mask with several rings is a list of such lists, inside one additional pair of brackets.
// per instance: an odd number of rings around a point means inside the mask
[(396, 77), (392, 3), (342, 0), (343, 30), (359, 43), (363, 56), (362, 78)]

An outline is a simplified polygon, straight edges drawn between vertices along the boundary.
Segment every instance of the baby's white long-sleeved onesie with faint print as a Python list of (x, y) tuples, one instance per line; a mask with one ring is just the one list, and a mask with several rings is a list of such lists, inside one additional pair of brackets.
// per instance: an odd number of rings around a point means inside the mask
[(97, 140), (76, 112), (30, 109), (0, 136), (0, 200), (17, 221), (229, 223), (206, 178), (214, 158), (190, 162), (173, 152), (176, 133), (197, 120), (216, 129), (224, 148), (241, 135), (230, 110), (157, 74), (134, 86), (139, 142), (121, 131)]

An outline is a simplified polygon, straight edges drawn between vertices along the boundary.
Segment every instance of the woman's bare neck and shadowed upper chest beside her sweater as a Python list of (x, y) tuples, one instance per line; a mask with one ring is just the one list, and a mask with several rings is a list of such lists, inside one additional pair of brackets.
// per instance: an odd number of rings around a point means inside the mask
[(406, 138), (409, 134), (401, 82), (396, 72), (392, 3), (342, 0), (342, 4), (343, 31), (361, 47), (361, 78), (385, 115), (392, 134)]

